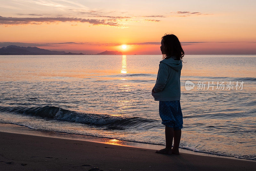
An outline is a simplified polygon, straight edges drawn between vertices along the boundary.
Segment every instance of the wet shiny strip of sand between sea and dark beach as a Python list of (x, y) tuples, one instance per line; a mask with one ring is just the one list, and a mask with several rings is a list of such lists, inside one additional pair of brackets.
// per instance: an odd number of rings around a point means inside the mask
[[(93, 135), (82, 135), (82, 134), (68, 133), (68, 132), (38, 130), (38, 129), (33, 129), (24, 125), (18, 125), (14, 123), (0, 123), (0, 128), (1, 128), (0, 132), (18, 133), (18, 134), (24, 134), (24, 135), (81, 140), (81, 141), (111, 144), (111, 145), (117, 145), (117, 146), (144, 148), (149, 150), (164, 148), (163, 145), (148, 144), (148, 143), (142, 143), (142, 142), (134, 142), (134, 141), (127, 141), (127, 140), (111, 139), (111, 138), (102, 138), (102, 137), (97, 137)], [(196, 152), (196, 151), (192, 151), (184, 148), (179, 148), (179, 151), (180, 153), (187, 153), (187, 154), (193, 154), (193, 155), (211, 156), (211, 157), (227, 158), (227, 159), (234, 159), (234, 160), (256, 161), (256, 160), (250, 160), (250, 159), (236, 158), (232, 156)]]

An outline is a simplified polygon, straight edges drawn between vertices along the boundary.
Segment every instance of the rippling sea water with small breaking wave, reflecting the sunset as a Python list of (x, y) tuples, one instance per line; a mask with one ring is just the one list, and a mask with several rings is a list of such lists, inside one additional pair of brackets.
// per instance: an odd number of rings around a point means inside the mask
[[(2, 55), (0, 122), (164, 145), (161, 55)], [(256, 55), (185, 55), (180, 147), (256, 160)]]

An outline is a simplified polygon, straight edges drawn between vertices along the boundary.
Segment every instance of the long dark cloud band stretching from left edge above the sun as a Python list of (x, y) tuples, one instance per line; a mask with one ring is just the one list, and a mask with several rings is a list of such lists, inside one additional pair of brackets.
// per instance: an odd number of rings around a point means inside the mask
[(41, 24), (55, 22), (81, 22), (90, 23), (92, 25), (108, 25), (120, 27), (113, 19), (84, 19), (74, 17), (38, 17), (38, 18), (17, 18), (17, 17), (2, 17), (0, 16), (0, 25), (26, 25), (26, 24)]

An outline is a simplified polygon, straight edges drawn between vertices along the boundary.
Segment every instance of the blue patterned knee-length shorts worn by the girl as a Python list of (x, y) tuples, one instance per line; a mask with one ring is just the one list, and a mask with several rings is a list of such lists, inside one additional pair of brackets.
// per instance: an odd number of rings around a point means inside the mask
[(159, 115), (163, 125), (172, 127), (173, 130), (180, 130), (183, 128), (180, 100), (159, 101)]

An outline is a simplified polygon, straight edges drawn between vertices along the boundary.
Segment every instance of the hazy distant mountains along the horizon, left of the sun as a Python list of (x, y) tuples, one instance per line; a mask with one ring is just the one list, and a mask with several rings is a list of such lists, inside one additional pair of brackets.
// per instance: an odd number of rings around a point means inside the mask
[[(99, 55), (115, 55), (122, 54), (118, 51), (105, 51), (98, 53)], [(20, 47), (10, 45), (0, 48), (0, 55), (85, 55), (84, 53), (66, 53), (65, 51), (51, 51), (47, 49), (40, 49), (38, 47)]]

